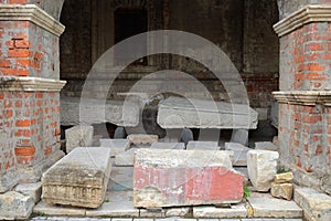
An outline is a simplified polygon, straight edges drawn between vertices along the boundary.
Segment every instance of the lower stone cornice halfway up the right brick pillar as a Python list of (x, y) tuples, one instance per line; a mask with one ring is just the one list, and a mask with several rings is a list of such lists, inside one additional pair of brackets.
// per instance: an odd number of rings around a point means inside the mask
[(279, 103), (331, 106), (331, 91), (288, 91), (273, 94)]

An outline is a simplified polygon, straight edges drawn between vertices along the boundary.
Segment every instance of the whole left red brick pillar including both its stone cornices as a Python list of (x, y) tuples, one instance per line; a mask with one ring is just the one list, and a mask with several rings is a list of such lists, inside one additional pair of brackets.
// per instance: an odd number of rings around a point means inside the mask
[(34, 4), (0, 4), (0, 192), (19, 180), (39, 179), (63, 156), (58, 144), (63, 31)]

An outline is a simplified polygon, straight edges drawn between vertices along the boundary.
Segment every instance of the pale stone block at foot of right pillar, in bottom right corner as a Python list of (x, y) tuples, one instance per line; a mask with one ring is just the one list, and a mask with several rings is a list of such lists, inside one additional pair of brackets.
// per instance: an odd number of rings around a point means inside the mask
[(295, 201), (303, 209), (305, 219), (330, 221), (331, 197), (310, 188), (295, 188)]

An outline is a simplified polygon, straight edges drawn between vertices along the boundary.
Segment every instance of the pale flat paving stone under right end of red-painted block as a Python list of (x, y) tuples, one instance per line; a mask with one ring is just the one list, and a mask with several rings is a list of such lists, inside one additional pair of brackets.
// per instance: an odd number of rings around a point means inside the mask
[(194, 218), (246, 218), (247, 210), (244, 203), (233, 204), (231, 208), (216, 208), (216, 207), (194, 207)]

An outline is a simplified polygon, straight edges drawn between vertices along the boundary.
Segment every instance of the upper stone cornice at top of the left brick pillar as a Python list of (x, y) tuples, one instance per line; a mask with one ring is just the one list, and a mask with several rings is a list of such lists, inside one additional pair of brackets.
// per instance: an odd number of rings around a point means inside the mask
[(60, 36), (65, 27), (35, 4), (0, 4), (0, 21), (31, 21)]

